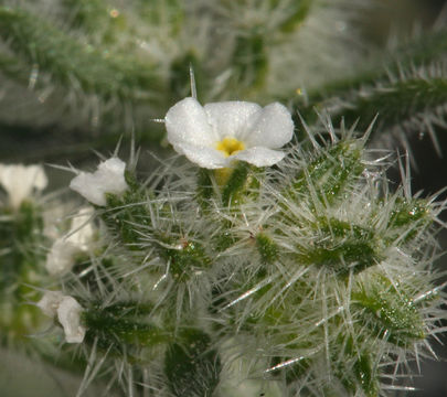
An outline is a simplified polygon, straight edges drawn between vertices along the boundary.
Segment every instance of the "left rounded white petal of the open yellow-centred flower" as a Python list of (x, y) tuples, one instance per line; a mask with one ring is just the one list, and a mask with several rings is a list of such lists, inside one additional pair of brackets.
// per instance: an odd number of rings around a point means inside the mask
[(207, 122), (205, 110), (194, 98), (184, 98), (172, 106), (164, 117), (164, 125), (172, 146), (212, 147), (219, 140)]

